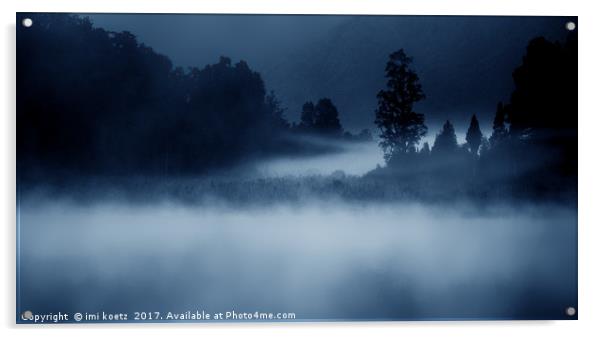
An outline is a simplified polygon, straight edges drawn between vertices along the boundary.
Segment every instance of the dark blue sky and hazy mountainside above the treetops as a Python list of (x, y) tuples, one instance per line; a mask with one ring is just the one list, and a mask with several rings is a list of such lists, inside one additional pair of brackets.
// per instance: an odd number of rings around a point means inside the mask
[(427, 99), (428, 138), (444, 120), (459, 138), (474, 113), (490, 129), (495, 105), (512, 90), (512, 70), (536, 36), (562, 40), (566, 17), (299, 15), (89, 15), (96, 26), (128, 30), (176, 66), (219, 56), (246, 60), (298, 120), (301, 105), (330, 97), (346, 129), (373, 128), (388, 55), (414, 58)]

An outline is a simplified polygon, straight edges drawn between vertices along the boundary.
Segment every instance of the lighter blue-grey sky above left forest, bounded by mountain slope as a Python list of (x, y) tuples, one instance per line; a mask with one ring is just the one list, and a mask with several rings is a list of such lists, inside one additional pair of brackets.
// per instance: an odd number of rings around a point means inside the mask
[(129, 30), (175, 65), (204, 66), (222, 55), (251, 66), (319, 39), (342, 16), (277, 15), (89, 15), (100, 27)]

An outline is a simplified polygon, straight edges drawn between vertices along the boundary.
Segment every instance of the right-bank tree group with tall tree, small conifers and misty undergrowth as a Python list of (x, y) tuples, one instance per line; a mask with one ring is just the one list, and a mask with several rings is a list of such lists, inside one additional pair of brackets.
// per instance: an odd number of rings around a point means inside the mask
[(414, 106), (425, 94), (403, 49), (390, 55), (385, 76), (375, 124), (388, 171), (379, 174), (407, 173), (430, 181), (489, 186), (511, 180), (533, 193), (576, 189), (575, 32), (563, 43), (542, 37), (530, 41), (522, 64), (512, 73), (515, 88), (509, 101), (496, 107), (491, 136), (483, 136), (473, 115), (463, 145), (448, 120), (432, 149), (428, 143), (418, 148), (427, 126), (424, 114)]

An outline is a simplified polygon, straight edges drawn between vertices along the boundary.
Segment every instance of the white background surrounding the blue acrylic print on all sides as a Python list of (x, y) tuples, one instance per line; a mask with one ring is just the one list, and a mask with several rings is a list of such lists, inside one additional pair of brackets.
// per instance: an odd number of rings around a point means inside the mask
[[(1, 2), (0, 65), (0, 327), (3, 335), (90, 336), (110, 334), (164, 336), (579, 336), (600, 335), (602, 279), (602, 218), (597, 209), (602, 150), (600, 114), (602, 79), (599, 41), (602, 12), (595, 1), (579, 0), (18, 0)], [(515, 322), (385, 322), (276, 324), (153, 324), (16, 326), (15, 320), (15, 12), (137, 12), (137, 13), (306, 13), (423, 15), (570, 15), (579, 16), (579, 321)], [(85, 329), (81, 331), (80, 329)]]

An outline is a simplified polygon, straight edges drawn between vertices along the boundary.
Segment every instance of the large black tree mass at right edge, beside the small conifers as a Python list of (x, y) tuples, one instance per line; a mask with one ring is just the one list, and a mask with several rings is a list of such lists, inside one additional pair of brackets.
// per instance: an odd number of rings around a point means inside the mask
[[(507, 105), (515, 161), (546, 162), (547, 173), (577, 175), (577, 33), (565, 43), (531, 40), (513, 72), (515, 89)], [(520, 143), (520, 144), (519, 144)], [(540, 175), (541, 176), (541, 175)], [(541, 182), (548, 186), (549, 182)], [(547, 187), (542, 187), (547, 188)]]

